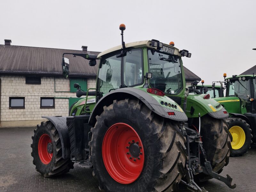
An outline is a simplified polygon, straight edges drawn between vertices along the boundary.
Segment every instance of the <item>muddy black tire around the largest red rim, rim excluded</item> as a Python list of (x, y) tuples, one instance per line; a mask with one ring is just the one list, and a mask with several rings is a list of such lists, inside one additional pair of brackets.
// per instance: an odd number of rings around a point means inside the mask
[[(175, 191), (185, 176), (187, 160), (185, 137), (179, 123), (160, 117), (139, 100), (114, 100), (104, 107), (91, 129), (90, 160), (99, 188), (106, 192), (124, 191)], [(116, 182), (107, 172), (102, 158), (102, 142), (108, 128), (116, 123), (125, 123), (138, 133), (144, 148), (145, 161), (137, 180), (130, 184)]]

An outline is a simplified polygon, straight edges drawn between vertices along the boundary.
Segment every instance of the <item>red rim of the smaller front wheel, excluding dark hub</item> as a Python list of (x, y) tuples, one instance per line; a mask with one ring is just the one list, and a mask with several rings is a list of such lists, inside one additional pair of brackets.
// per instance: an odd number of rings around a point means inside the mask
[(48, 143), (52, 143), (52, 140), (49, 137), (49, 135), (41, 135), (38, 141), (38, 155), (43, 164), (49, 164), (52, 160), (53, 153), (48, 153), (47, 151)]

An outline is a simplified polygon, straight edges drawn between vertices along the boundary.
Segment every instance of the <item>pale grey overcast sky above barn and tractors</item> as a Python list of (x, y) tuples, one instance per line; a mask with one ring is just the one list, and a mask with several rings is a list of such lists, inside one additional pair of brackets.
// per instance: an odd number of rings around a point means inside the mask
[(206, 84), (256, 65), (255, 0), (0, 1), (0, 44), (104, 51), (157, 39), (192, 53), (183, 64)]

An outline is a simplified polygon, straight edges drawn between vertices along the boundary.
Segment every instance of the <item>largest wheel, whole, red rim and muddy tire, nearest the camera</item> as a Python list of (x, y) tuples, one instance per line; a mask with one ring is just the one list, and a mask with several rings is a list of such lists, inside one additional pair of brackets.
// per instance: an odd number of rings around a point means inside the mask
[(96, 119), (89, 145), (100, 189), (162, 192), (178, 188), (187, 160), (178, 122), (130, 99), (114, 100)]

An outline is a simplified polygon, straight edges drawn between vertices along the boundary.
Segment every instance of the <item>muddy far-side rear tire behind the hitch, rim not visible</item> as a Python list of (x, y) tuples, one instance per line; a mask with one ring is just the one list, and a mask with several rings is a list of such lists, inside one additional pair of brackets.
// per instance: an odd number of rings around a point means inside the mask
[[(209, 115), (201, 118), (201, 132), (203, 148), (207, 155), (207, 160), (212, 165), (214, 172), (220, 173), (223, 167), (228, 165), (229, 156), (232, 151), (232, 136), (228, 131), (227, 123), (222, 119), (216, 119)], [(204, 159), (201, 157), (201, 164), (204, 165)], [(212, 179), (200, 173), (195, 176), (200, 182)]]

